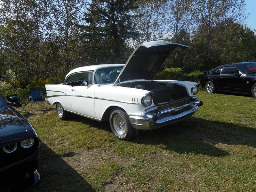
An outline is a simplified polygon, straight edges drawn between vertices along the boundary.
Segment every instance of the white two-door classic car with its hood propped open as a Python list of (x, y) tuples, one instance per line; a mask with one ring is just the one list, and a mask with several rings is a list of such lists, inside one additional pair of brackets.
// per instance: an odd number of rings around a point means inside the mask
[(68, 112), (97, 121), (109, 120), (120, 140), (135, 130), (163, 127), (196, 113), (198, 83), (154, 80), (157, 69), (177, 47), (167, 41), (140, 44), (126, 64), (91, 65), (71, 70), (63, 84), (46, 84), (46, 100), (56, 104), (57, 115)]

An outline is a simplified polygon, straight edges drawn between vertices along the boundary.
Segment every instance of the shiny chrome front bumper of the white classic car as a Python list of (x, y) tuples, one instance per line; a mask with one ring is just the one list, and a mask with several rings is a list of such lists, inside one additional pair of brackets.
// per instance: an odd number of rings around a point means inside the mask
[[(135, 129), (150, 130), (163, 127), (172, 123), (183, 120), (185, 117), (192, 116), (196, 113), (198, 107), (202, 106), (203, 102), (198, 99), (189, 102), (183, 106), (177, 108), (170, 108), (161, 111), (161, 113), (147, 113), (145, 116), (134, 116), (130, 115), (129, 120)], [(155, 107), (153, 107), (155, 108)], [(149, 111), (148, 109), (146, 111)], [(171, 112), (178, 112), (179, 114), (168, 114)], [(143, 113), (142, 113), (143, 114)]]

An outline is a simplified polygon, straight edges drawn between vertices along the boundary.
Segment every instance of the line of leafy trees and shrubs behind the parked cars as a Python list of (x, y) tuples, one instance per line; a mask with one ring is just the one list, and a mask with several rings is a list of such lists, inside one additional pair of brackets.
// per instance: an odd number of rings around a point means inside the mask
[(161, 70), (255, 61), (244, 7), (244, 0), (2, 0), (0, 91), (60, 83), (85, 65), (125, 63), (136, 45), (160, 39), (190, 46)]

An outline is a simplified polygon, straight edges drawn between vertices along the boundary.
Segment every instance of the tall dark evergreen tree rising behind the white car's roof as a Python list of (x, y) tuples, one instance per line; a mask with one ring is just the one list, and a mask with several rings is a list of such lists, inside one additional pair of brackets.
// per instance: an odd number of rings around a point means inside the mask
[(84, 20), (88, 25), (81, 26), (92, 63), (95, 54), (99, 63), (124, 62), (126, 41), (136, 36), (132, 24), (133, 0), (92, 0)]

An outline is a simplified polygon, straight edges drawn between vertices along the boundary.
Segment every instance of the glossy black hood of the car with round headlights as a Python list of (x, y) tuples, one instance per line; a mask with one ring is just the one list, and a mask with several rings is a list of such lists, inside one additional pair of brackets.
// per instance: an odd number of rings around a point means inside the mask
[(26, 119), (9, 107), (0, 110), (0, 138), (27, 132)]

